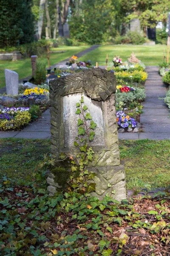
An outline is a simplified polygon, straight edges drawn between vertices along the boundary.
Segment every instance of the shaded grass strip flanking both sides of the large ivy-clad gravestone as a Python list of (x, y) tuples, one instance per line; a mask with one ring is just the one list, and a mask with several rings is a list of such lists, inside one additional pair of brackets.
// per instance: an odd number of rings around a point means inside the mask
[[(49, 140), (0, 139), (0, 174), (28, 179), (49, 151)], [(170, 186), (170, 140), (122, 140), (120, 152), (128, 189)]]

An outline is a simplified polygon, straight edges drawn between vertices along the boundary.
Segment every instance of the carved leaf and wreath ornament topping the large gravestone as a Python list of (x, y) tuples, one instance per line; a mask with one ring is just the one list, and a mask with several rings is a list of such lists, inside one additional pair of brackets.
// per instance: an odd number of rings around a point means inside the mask
[(51, 98), (71, 91), (84, 90), (94, 100), (105, 101), (116, 92), (116, 79), (113, 73), (101, 68), (89, 69), (80, 73), (61, 76), (49, 82)]

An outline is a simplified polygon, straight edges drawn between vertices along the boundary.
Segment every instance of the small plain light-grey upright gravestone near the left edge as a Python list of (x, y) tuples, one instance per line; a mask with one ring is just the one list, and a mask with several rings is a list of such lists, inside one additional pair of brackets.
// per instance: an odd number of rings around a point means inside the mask
[(11, 95), (18, 94), (18, 73), (13, 70), (5, 69), (6, 93)]

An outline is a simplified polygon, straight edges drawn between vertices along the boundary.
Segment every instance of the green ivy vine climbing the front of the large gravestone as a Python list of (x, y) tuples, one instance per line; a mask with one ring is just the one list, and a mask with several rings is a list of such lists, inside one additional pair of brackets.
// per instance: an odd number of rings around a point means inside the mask
[(74, 146), (79, 147), (80, 153), (77, 156), (66, 156), (64, 153), (60, 154), (62, 160), (66, 158), (71, 159), (72, 167), (71, 171), (79, 171), (79, 177), (75, 178), (71, 175), (68, 182), (72, 188), (81, 190), (86, 193), (90, 193), (95, 190), (96, 183), (90, 182), (96, 176), (95, 173), (88, 172), (87, 166), (89, 161), (92, 161), (94, 151), (91, 147), (91, 141), (94, 140), (96, 123), (92, 120), (92, 116), (88, 111), (88, 107), (84, 105), (84, 98), (81, 96), (80, 102), (76, 104), (76, 114), (81, 118), (78, 119), (78, 137), (74, 141)]

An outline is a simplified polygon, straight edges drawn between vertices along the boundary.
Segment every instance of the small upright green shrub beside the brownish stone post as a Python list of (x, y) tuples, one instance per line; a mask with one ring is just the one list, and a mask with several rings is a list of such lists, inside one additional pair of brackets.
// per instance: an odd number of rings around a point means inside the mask
[(45, 66), (46, 66), (45, 61), (41, 61), (37, 59), (35, 64), (35, 77), (34, 77), (35, 84), (44, 83), (46, 79)]

